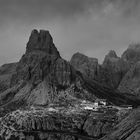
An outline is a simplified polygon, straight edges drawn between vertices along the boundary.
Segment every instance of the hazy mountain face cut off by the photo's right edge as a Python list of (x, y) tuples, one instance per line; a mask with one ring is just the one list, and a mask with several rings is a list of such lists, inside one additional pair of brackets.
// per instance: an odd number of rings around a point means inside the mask
[(140, 44), (131, 44), (123, 53), (122, 59), (129, 63), (131, 68), (123, 77), (118, 89), (140, 96)]

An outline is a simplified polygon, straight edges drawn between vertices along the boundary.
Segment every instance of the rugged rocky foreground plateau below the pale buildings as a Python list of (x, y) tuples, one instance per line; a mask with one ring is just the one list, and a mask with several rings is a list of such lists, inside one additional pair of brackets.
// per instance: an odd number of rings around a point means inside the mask
[(60, 104), (58, 107), (31, 107), (3, 117), (0, 120), (0, 137), (27, 139), (30, 135), (38, 140), (94, 140), (111, 132), (120, 119), (119, 114), (122, 116), (113, 108), (102, 108), (100, 112), (86, 110), (80, 102), (65, 107)]

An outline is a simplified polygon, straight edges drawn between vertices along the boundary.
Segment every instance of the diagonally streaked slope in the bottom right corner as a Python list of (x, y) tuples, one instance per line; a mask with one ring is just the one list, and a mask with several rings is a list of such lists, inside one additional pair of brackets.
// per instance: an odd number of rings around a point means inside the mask
[(111, 134), (101, 140), (139, 140), (140, 108), (134, 110), (114, 127)]

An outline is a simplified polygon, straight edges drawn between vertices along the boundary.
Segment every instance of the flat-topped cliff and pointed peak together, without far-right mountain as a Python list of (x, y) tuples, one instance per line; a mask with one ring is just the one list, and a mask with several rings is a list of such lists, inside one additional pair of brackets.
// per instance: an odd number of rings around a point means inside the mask
[(71, 65), (86, 78), (95, 80), (102, 85), (116, 89), (125, 73), (129, 70), (128, 62), (119, 58), (115, 51), (110, 51), (102, 65), (96, 58), (89, 58), (81, 53), (72, 56)]

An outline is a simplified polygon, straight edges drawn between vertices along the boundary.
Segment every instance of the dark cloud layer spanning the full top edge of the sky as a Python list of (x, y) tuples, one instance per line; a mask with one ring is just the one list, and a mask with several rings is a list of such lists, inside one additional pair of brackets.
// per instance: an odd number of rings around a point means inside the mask
[(122, 11), (122, 15), (139, 16), (139, 0), (0, 0), (3, 20), (42, 20), (44, 18), (73, 18), (101, 12), (108, 4)]

